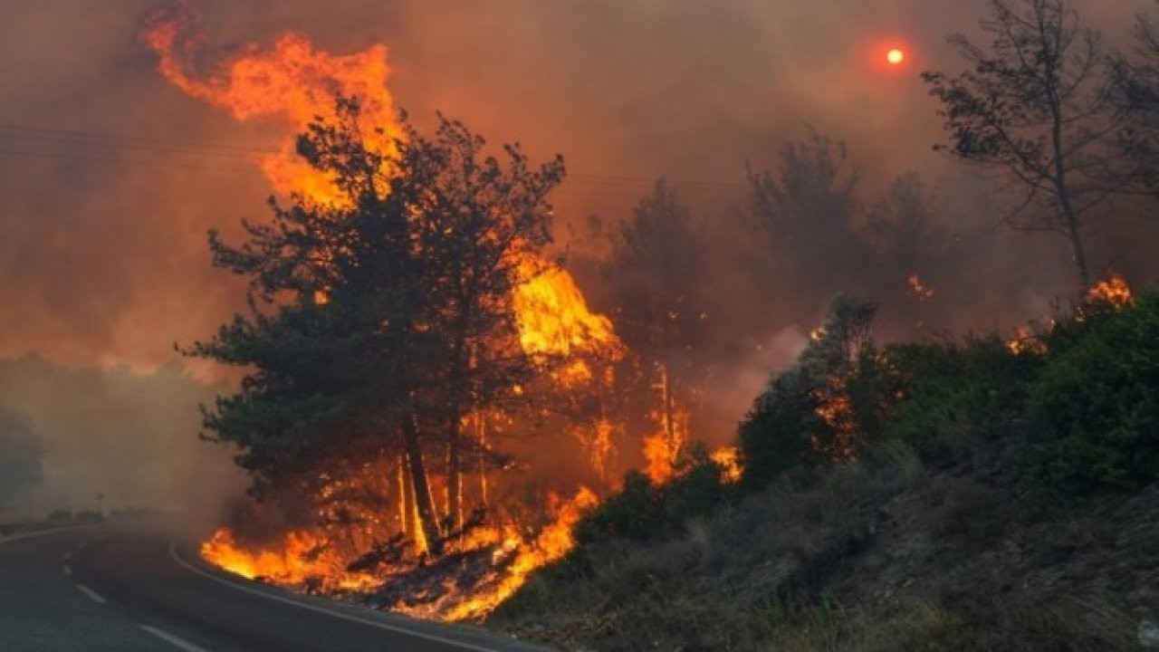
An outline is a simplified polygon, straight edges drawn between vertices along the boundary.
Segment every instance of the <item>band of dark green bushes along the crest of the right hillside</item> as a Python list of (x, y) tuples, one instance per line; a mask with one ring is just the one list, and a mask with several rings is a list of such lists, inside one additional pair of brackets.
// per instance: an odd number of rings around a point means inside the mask
[(1159, 292), (1088, 298), (1022, 347), (987, 335), (876, 349), (870, 318), (870, 306), (834, 302), (757, 398), (738, 430), (749, 490), (880, 441), (934, 468), (1004, 442), (1027, 486), (1066, 497), (1159, 477)]

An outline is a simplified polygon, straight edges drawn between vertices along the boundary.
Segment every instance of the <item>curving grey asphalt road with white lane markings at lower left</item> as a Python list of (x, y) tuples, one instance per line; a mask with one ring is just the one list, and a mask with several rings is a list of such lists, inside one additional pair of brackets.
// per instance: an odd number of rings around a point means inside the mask
[(0, 651), (544, 650), (291, 594), (205, 565), (154, 528), (0, 538)]

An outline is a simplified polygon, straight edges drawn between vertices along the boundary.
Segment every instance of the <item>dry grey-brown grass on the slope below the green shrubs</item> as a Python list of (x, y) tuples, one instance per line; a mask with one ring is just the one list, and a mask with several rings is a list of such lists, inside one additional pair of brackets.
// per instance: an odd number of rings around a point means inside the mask
[[(570, 650), (1135, 650), (1137, 622), (1110, 601), (993, 588), (1016, 572), (994, 557), (1008, 533), (996, 537), (993, 522), (1013, 522), (1003, 500), (970, 477), (931, 478), (891, 444), (664, 541), (590, 545), (489, 624)], [(887, 515), (899, 506), (912, 516)], [(906, 560), (899, 542), (914, 528), (941, 548)]]

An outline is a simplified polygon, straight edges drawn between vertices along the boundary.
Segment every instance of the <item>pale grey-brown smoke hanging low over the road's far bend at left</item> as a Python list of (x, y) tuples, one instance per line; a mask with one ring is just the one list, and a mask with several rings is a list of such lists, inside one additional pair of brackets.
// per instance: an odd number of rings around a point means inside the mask
[[(38, 357), (0, 360), (0, 413), (20, 414), (43, 449), (39, 483), (22, 501), (34, 516), (158, 509), (199, 522), (243, 486), (220, 447), (197, 437), (198, 404), (224, 387), (175, 365), (67, 369)], [(100, 494), (100, 498), (97, 498)]]

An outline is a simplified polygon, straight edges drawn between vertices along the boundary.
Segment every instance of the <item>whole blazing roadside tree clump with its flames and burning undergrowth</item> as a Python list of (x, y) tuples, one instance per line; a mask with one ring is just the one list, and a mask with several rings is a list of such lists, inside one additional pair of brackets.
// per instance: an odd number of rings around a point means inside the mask
[[(289, 201), (272, 225), (247, 224), (240, 247), (211, 233), (214, 263), (250, 278), (252, 312), (187, 354), (247, 370), (205, 425), (255, 500), (203, 543), (206, 560), (478, 620), (573, 548), (622, 449), (643, 450), (654, 481), (679, 473), (687, 393), (547, 253), (562, 160), (535, 168), (505, 147), (501, 162), (453, 121), (421, 136), (395, 111), (382, 46), (334, 56), (285, 35), (198, 75), (191, 27), (170, 13), (145, 34), (166, 79), (298, 135), (255, 161)], [(625, 368), (649, 370), (649, 405), (622, 398)], [(739, 474), (735, 450), (714, 458)]]

